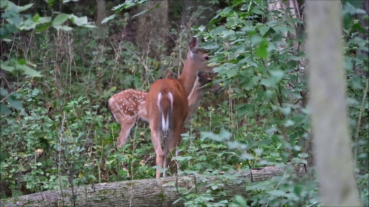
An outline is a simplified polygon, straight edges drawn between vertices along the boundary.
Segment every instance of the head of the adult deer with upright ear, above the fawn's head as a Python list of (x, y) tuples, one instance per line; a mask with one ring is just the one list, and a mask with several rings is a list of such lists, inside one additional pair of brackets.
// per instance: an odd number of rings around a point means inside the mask
[(209, 56), (199, 50), (199, 38), (193, 37), (189, 41), (189, 50), (187, 53), (187, 59), (189, 67), (192, 71), (207, 71), (213, 72), (215, 66), (208, 66), (206, 61), (209, 60)]

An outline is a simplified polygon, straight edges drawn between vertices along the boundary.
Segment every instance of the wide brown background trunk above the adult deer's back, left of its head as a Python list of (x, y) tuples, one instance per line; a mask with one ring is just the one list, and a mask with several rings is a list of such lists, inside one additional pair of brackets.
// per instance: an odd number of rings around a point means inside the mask
[[(159, 8), (154, 8), (160, 3)], [(139, 12), (154, 8), (138, 16), (136, 42), (141, 45), (144, 54), (158, 57), (167, 49), (169, 32), (168, 1), (147, 1), (139, 6)]]

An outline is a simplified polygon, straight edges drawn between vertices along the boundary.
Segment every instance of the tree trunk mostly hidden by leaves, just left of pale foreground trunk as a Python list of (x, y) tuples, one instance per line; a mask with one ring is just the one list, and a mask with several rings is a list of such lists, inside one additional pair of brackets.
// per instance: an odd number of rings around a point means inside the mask
[[(300, 20), (304, 21), (304, 9), (301, 9), (304, 7), (304, 2), (303, 1), (297, 1), (297, 0), (288, 0), (288, 1), (275, 1), (275, 0), (269, 0), (268, 1), (268, 8), (269, 11), (273, 11), (273, 10), (280, 10), (280, 11), (284, 11), (287, 8), (291, 8), (290, 12), (291, 14), (285, 13), (285, 18), (288, 18), (288, 15), (292, 15), (292, 18), (299, 18)], [(300, 12), (302, 11), (302, 13)], [(283, 34), (283, 36), (285, 36), (286, 38), (292, 38), (292, 39), (296, 39), (296, 38), (301, 38), (304, 36), (305, 32), (304, 32), (304, 26), (303, 25), (294, 25), (295, 30), (296, 30), (296, 35), (291, 34), (291, 33), (286, 33)], [(283, 49), (285, 46), (284, 45), (277, 45), (277, 49), (281, 50)], [(301, 42), (298, 43), (296, 42), (293, 45), (293, 55), (297, 55), (298, 52), (305, 52), (305, 43)], [(305, 71), (305, 68), (307, 66), (307, 59), (305, 60), (301, 60), (298, 63), (299, 66), (299, 70), (302, 72), (307, 72)], [(300, 79), (304, 78), (304, 77), (300, 77), (297, 81), (300, 82)], [(294, 86), (294, 83), (290, 83), (291, 85)], [(292, 87), (290, 85), (287, 85), (287, 88), (292, 89)], [(304, 90), (300, 92), (300, 95), (303, 97), (302, 99), (298, 100), (296, 98), (294, 98), (293, 96), (290, 95), (289, 99), (292, 103), (296, 103), (299, 106), (299, 109), (295, 110), (294, 113), (301, 113), (301, 108), (305, 108), (307, 106), (307, 100), (308, 100), (308, 90)], [(300, 143), (303, 144), (303, 148), (304, 148), (304, 152), (307, 153), (309, 155), (309, 157), (306, 158), (307, 161), (307, 168), (310, 168), (311, 166), (314, 166), (314, 154), (313, 154), (313, 145), (311, 140), (313, 139), (313, 134), (310, 133), (309, 131), (309, 135), (308, 138), (300, 138)]]

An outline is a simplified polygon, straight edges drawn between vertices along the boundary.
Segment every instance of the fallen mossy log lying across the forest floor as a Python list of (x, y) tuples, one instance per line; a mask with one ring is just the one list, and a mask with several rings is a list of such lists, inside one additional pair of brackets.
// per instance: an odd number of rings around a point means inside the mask
[[(223, 190), (227, 192), (226, 198), (235, 195), (247, 196), (245, 185), (252, 181), (259, 182), (280, 175), (283, 168), (265, 167), (253, 169), (252, 173), (235, 171), (232, 175), (224, 173), (216, 176), (172, 176), (167, 178), (151, 178), (141, 180), (128, 180), (113, 183), (101, 183), (75, 187), (73, 189), (50, 190), (42, 193), (2, 199), (1, 207), (6, 206), (173, 206), (173, 201), (181, 197), (176, 187), (186, 187), (188, 191), (195, 191), (195, 184), (219, 182), (224, 184)], [(305, 175), (303, 165), (297, 166), (294, 171), (300, 176)], [(232, 180), (230, 178), (233, 178)], [(235, 182), (237, 180), (238, 182)], [(239, 182), (241, 180), (241, 182)], [(176, 184), (177, 183), (177, 184)], [(163, 187), (164, 184), (167, 184)], [(201, 185), (197, 192), (206, 192), (209, 187)], [(221, 187), (220, 187), (221, 188)], [(219, 189), (222, 190), (222, 189)], [(75, 196), (72, 196), (72, 195)], [(73, 199), (75, 204), (73, 204)], [(225, 199), (224, 197), (222, 199)], [(183, 206), (182, 202), (176, 206)]]

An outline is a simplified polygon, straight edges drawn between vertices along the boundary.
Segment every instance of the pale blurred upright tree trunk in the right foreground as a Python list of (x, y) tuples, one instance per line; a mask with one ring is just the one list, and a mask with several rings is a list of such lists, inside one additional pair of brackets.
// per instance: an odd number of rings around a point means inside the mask
[(347, 120), (341, 4), (307, 1), (311, 121), (324, 206), (361, 206)]

